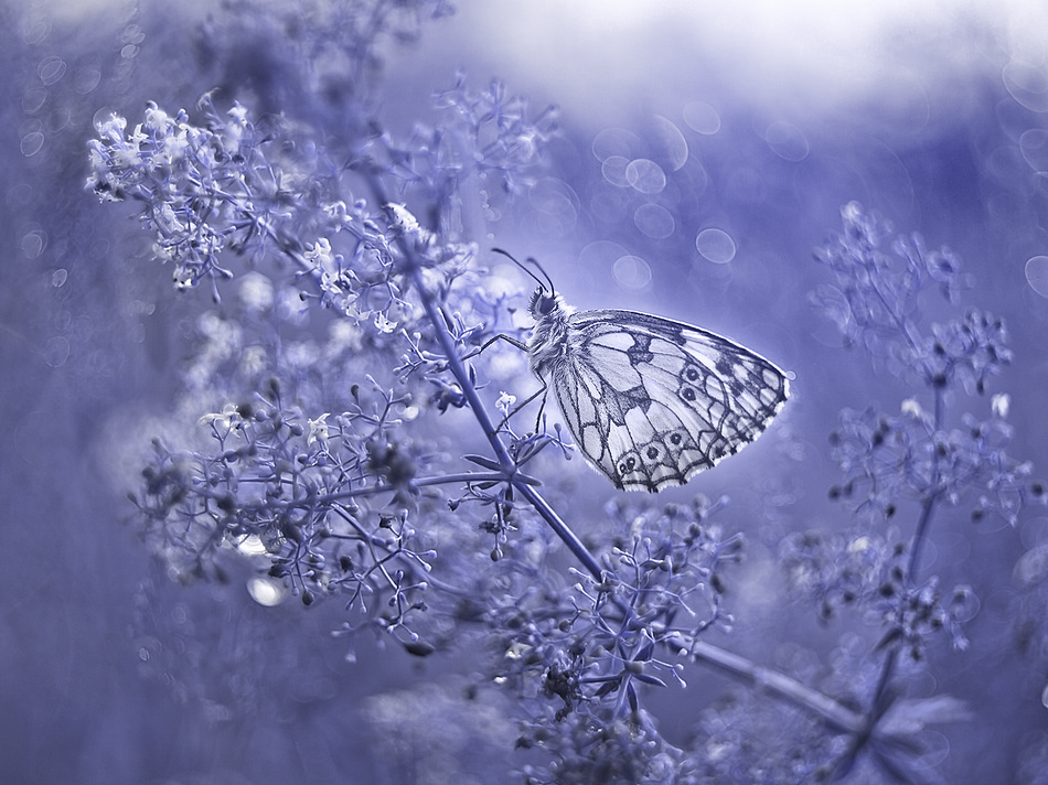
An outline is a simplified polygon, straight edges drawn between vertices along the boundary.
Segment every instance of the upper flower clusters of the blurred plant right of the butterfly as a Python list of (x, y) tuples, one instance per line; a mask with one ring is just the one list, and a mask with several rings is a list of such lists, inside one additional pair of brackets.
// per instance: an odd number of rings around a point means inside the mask
[(843, 411), (831, 444), (844, 481), (831, 495), (887, 517), (907, 499), (951, 505), (966, 499), (973, 518), (997, 513), (1015, 524), (1024, 502), (1042, 501), (1044, 491), (1030, 480), (1031, 466), (1007, 454), (1007, 395), (993, 396), (985, 420), (964, 412), (951, 427), (945, 412), (948, 391), (982, 394), (1010, 361), (1003, 322), (970, 310), (926, 331), (919, 297), (938, 286), (955, 300), (959, 259), (947, 249), (924, 250), (916, 236), (896, 240), (895, 256), (885, 254), (879, 247), (890, 232), (887, 224), (854, 202), (842, 215), (844, 232), (816, 254), (834, 271), (837, 287), (823, 289), (817, 302), (849, 343), (895, 361), (899, 376), (920, 380), (930, 401), (926, 409), (918, 397), (907, 398), (898, 415)]

